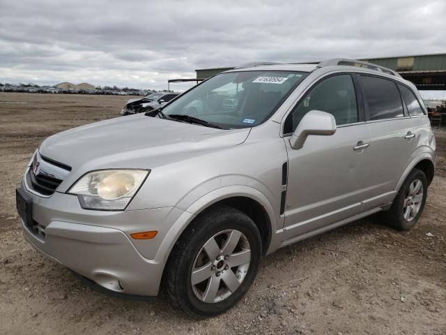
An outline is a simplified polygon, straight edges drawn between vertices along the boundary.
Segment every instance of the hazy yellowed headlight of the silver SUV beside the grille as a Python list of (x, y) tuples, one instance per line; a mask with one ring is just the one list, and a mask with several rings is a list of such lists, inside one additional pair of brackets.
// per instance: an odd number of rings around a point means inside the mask
[(71, 186), (84, 209), (123, 210), (150, 170), (99, 170), (89, 172)]

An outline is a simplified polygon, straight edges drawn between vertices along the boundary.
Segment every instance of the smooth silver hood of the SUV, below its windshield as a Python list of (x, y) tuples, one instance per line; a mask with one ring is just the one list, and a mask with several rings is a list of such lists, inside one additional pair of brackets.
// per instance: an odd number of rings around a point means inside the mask
[(222, 130), (137, 114), (72, 128), (45, 140), (40, 154), (75, 174), (105, 168), (151, 169), (244, 142), (249, 128)]

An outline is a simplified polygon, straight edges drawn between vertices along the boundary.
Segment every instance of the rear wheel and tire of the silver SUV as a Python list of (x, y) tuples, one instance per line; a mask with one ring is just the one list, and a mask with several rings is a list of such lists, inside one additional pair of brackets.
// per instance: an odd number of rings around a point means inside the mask
[(410, 230), (420, 218), (427, 195), (426, 174), (413, 169), (401, 186), (392, 207), (383, 213), (387, 225), (397, 230)]

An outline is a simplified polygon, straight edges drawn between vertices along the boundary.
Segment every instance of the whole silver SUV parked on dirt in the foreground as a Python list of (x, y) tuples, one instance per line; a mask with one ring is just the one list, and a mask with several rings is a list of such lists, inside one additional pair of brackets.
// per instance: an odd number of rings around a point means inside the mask
[(415, 86), (374, 64), (236, 68), (167, 105), (45, 140), (24, 236), (109, 290), (226, 311), (262, 255), (378, 212), (422, 214), (436, 142)]

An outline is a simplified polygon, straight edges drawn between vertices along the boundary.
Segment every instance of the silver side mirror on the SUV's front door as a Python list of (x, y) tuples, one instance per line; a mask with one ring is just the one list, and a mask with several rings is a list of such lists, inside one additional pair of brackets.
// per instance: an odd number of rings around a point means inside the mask
[(321, 110), (310, 110), (302, 117), (298, 128), (290, 138), (293, 149), (301, 149), (308, 135), (333, 135), (336, 132), (336, 121), (332, 114)]

